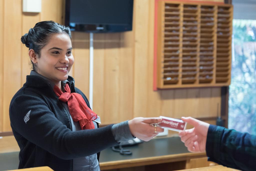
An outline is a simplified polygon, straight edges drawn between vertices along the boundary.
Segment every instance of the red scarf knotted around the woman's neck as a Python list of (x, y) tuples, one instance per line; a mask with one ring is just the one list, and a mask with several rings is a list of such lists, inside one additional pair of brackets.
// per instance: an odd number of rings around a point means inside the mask
[(95, 114), (90, 108), (88, 108), (81, 94), (71, 93), (68, 84), (66, 84), (63, 93), (59, 87), (54, 86), (54, 92), (62, 102), (68, 102), (68, 108), (73, 121), (78, 122), (81, 126), (81, 130), (94, 129), (92, 121), (97, 119)]

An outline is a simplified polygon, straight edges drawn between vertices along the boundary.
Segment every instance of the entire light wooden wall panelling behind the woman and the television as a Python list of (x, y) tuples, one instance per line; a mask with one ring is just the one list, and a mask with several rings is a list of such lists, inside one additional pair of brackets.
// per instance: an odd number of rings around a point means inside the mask
[[(11, 131), (10, 99), (30, 72), (28, 48), (20, 38), (38, 21), (63, 24), (63, 2), (44, 0), (41, 13), (26, 14), (21, 11), (22, 0), (0, 0), (0, 34), (4, 35), (0, 39), (0, 132)], [(93, 110), (103, 124), (137, 116), (217, 116), (220, 88), (153, 91), (154, 8), (153, 0), (134, 0), (133, 31), (94, 34)], [(88, 97), (89, 34), (73, 32), (72, 36), (75, 63), (70, 75)]]

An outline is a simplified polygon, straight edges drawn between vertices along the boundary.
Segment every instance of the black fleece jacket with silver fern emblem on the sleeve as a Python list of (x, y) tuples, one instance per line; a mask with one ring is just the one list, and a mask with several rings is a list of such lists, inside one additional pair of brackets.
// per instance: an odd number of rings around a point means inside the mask
[[(68, 77), (71, 92), (86, 96)], [(26, 83), (14, 95), (9, 108), (10, 122), (20, 147), (19, 168), (49, 166), (53, 170), (72, 171), (73, 158), (89, 156), (116, 145), (112, 125), (71, 131), (68, 113), (47, 80), (27, 76)]]

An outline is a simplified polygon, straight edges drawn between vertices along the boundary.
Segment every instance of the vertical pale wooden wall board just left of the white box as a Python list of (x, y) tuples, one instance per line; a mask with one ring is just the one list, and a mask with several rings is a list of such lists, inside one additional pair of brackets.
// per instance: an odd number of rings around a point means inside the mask
[(21, 86), (22, 0), (4, 2), (3, 131), (10, 131), (9, 104)]

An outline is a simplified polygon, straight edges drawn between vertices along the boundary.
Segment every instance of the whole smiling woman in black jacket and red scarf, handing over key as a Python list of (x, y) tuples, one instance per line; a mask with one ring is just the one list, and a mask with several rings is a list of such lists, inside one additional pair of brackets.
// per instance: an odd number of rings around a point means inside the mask
[(161, 118), (137, 117), (99, 128), (100, 118), (68, 75), (74, 58), (69, 27), (39, 22), (21, 41), (29, 48), (33, 70), (9, 108), (20, 147), (19, 168), (100, 170), (100, 151), (134, 136), (149, 141)]

